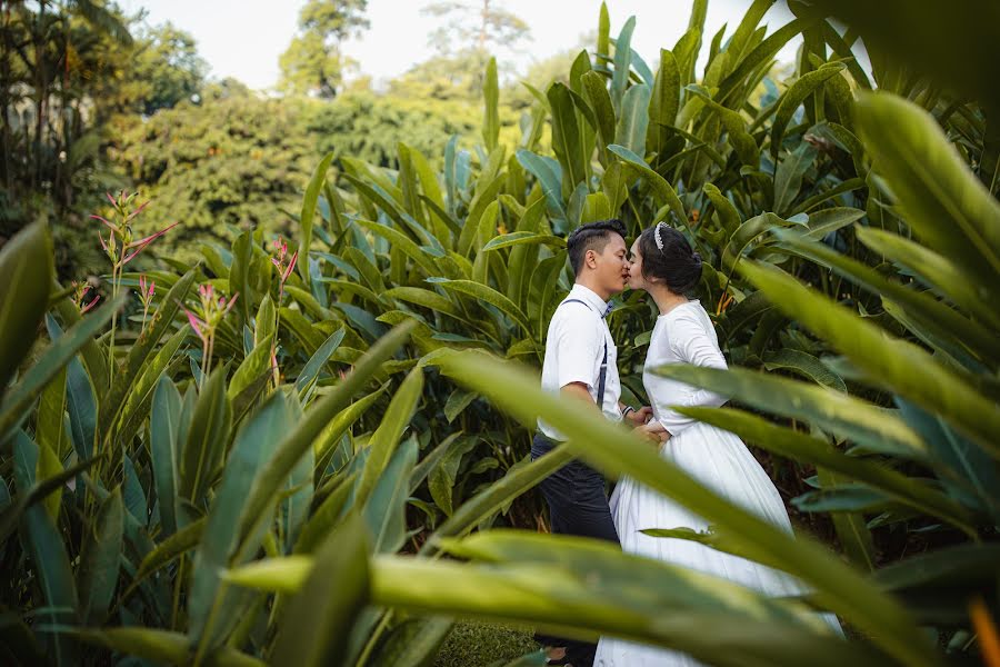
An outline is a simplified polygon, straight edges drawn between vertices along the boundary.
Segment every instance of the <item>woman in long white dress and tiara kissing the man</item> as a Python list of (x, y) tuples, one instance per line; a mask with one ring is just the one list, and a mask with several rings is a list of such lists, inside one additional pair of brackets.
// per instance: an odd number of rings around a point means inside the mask
[[(692, 252), (679, 231), (663, 222), (643, 231), (632, 245), (631, 253), (629, 287), (649, 292), (660, 310), (642, 374), (653, 409), (653, 417), (642, 427), (643, 431), (662, 442), (661, 456), (701, 484), (791, 534), (791, 524), (778, 489), (742, 440), (729, 431), (671, 409), (671, 406), (718, 407), (726, 399), (651, 372), (666, 364), (727, 368), (708, 313), (701, 303), (684, 296), (701, 277), (701, 257)], [(642, 534), (641, 530), (649, 528), (678, 527), (703, 531), (709, 524), (630, 478), (619, 481), (610, 504), (621, 547), (628, 552), (723, 577), (769, 596), (803, 591), (801, 584), (788, 575), (744, 558), (690, 540)], [(841, 631), (836, 617), (826, 618), (834, 626), (834, 631)], [(601, 639), (594, 659), (596, 667), (651, 665), (688, 666), (699, 663), (683, 654), (613, 638)]]

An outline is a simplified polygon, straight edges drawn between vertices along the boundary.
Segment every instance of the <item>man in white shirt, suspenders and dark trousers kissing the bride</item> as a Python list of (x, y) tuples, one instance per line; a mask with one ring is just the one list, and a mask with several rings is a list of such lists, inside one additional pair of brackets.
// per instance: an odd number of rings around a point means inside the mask
[[(629, 279), (629, 257), (620, 220), (583, 225), (567, 239), (567, 251), (576, 285), (556, 309), (546, 339), (542, 389), (572, 396), (600, 410), (612, 421), (627, 418), (644, 424), (652, 410), (636, 410), (619, 401), (618, 348), (604, 317), (608, 301), (620, 293)], [(566, 438), (539, 419), (531, 458), (537, 459)], [(582, 461), (572, 461), (541, 482), (549, 505), (552, 532), (596, 537), (618, 544), (611, 520), (604, 478)], [(550, 649), (550, 664), (590, 667), (597, 645), (538, 635), (543, 644), (566, 647)]]

